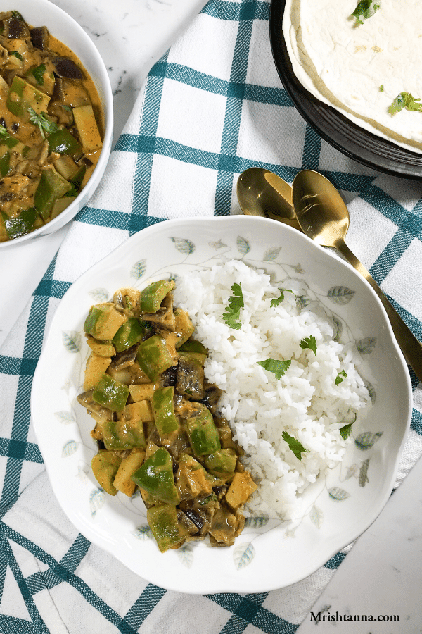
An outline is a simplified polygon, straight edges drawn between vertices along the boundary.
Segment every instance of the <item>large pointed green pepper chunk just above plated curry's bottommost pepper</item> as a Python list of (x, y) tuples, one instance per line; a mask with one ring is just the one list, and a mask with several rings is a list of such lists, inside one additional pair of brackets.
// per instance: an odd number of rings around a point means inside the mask
[(141, 489), (165, 504), (179, 504), (179, 494), (174, 485), (173, 460), (165, 447), (153, 453), (135, 473), (132, 480)]

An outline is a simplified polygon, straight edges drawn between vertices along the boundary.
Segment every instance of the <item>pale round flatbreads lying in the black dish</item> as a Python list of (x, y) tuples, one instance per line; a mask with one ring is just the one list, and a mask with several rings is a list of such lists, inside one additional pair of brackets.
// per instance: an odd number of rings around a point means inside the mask
[(388, 112), (401, 92), (422, 99), (422, 0), (377, 1), (378, 11), (355, 27), (357, 0), (287, 0), (293, 71), (360, 127), (422, 154), (422, 112)]

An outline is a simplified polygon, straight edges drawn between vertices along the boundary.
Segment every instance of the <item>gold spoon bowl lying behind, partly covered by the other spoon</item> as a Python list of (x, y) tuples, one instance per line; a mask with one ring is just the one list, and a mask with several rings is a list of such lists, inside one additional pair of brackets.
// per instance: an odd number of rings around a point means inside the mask
[(273, 172), (249, 168), (237, 182), (237, 197), (246, 216), (279, 220), (300, 231), (292, 200), (292, 188)]

